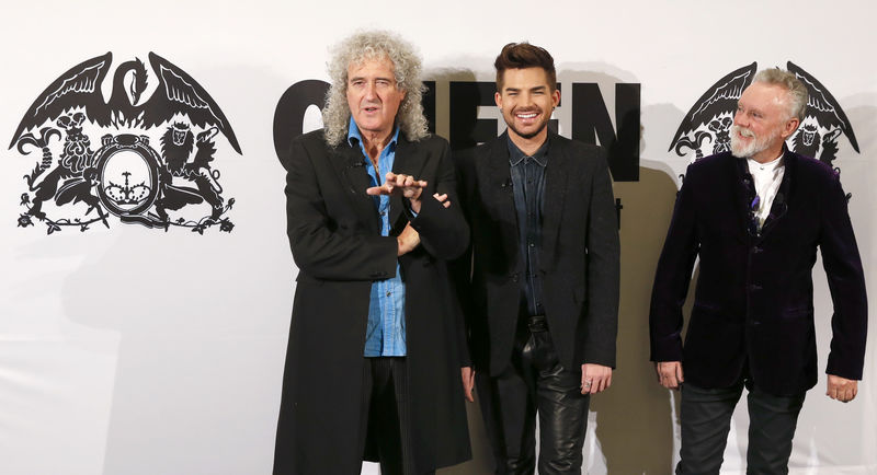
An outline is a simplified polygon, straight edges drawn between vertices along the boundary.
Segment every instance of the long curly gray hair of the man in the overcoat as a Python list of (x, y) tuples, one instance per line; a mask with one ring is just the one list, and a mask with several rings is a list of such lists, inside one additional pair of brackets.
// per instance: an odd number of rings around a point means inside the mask
[(406, 92), (396, 113), (396, 121), (406, 139), (414, 142), (429, 137), (421, 105), (426, 90), (421, 81), (423, 67), (410, 43), (390, 32), (361, 32), (339, 43), (332, 53), (327, 65), (332, 84), (322, 109), (326, 141), (331, 147), (338, 147), (348, 137), (348, 68), (372, 59), (388, 58), (392, 62), (396, 86)]

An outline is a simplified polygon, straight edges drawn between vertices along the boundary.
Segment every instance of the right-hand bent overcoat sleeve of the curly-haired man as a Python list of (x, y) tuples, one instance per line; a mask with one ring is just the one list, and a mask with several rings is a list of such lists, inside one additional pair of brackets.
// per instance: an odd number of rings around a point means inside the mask
[[(432, 197), (447, 194), (451, 206), (445, 208)], [(420, 244), (433, 257), (448, 260), (458, 257), (469, 245), (469, 225), (460, 211), (451, 148), (442, 140), (435, 183), (423, 192), (421, 208), (411, 227), (420, 234)]]

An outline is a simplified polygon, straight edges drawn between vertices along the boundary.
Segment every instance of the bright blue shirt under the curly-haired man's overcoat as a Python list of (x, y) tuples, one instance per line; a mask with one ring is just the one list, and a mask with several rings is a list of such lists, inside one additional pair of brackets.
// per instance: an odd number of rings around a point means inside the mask
[[(399, 138), (399, 127), (392, 135), (392, 139), (377, 159), (377, 170), (372, 164), (368, 153), (365, 151), (360, 128), (353, 117), (350, 118), (348, 129), (348, 142), (351, 147), (358, 144), (363, 151), (363, 160), (368, 176), (372, 178), (372, 186), (379, 186), (384, 183), (387, 172), (392, 171), (392, 162), (396, 160), (396, 143)], [(380, 235), (390, 233), (390, 197), (386, 195), (373, 197), (377, 218), (380, 224)], [(368, 325), (365, 331), (365, 356), (406, 356), (407, 348), (405, 343), (405, 283), (399, 273), (399, 263), (396, 263), (396, 276), (390, 279), (376, 280), (372, 282), (372, 296), (368, 303)]]

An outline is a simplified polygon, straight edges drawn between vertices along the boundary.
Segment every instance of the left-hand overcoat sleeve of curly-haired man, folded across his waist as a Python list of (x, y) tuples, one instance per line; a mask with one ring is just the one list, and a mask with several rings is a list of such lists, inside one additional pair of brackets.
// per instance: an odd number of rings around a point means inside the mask
[[(316, 142), (311, 140), (311, 142)], [(298, 138), (286, 167), (286, 230), (293, 258), (307, 275), (327, 280), (376, 280), (396, 275), (398, 244), (394, 236), (343, 229), (327, 207), (338, 187), (326, 146)], [(306, 147), (308, 146), (308, 147)], [(319, 161), (319, 163), (317, 163)], [(335, 199), (343, 199), (342, 192)]]

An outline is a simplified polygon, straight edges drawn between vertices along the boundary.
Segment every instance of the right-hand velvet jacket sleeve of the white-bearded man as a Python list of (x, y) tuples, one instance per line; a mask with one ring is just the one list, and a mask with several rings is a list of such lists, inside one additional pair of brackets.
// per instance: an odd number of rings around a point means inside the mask
[(836, 176), (831, 178), (824, 192), (820, 211), (819, 248), (834, 303), (831, 352), (825, 372), (861, 380), (868, 334), (868, 302), (846, 197)]

